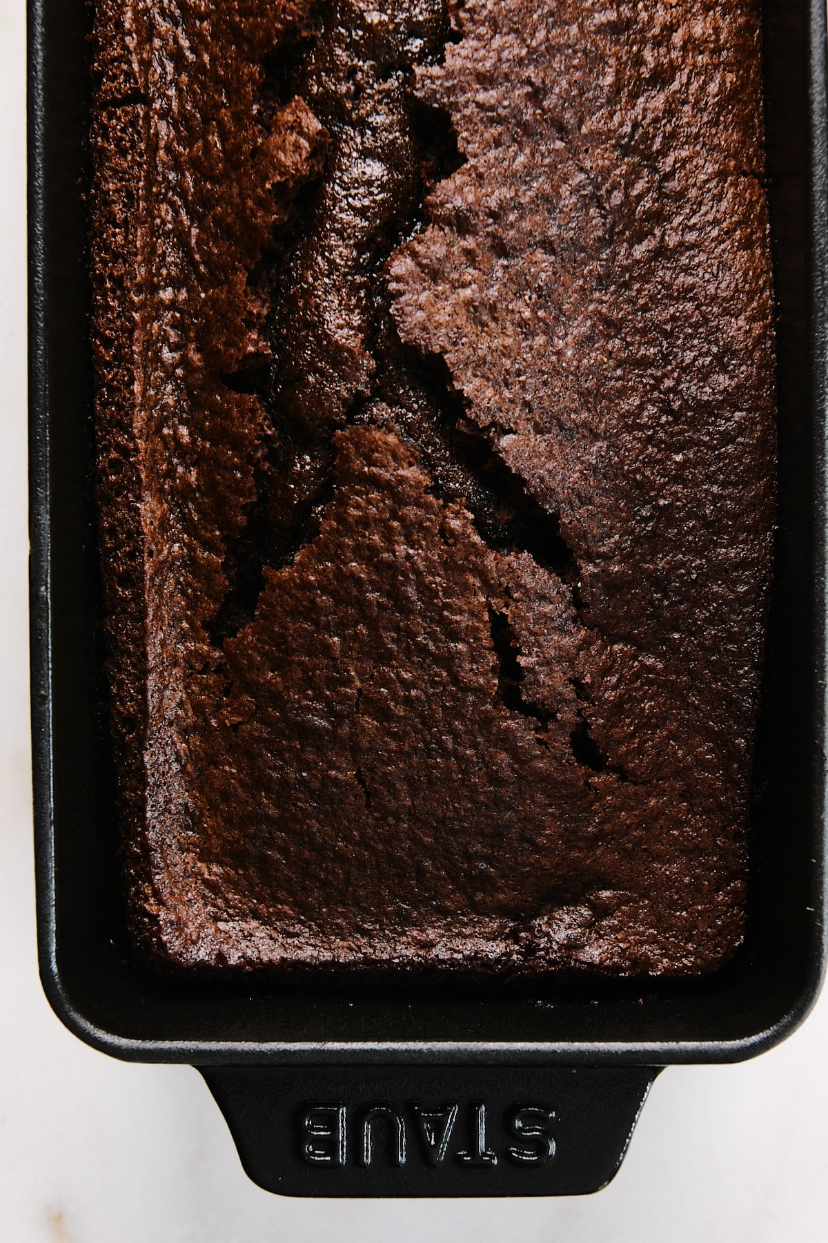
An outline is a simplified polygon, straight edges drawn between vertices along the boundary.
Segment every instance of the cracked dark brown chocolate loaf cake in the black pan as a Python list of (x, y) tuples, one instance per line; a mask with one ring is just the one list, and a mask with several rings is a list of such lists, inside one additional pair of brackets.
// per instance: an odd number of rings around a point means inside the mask
[(773, 521), (755, 0), (97, 0), (137, 943), (710, 970)]

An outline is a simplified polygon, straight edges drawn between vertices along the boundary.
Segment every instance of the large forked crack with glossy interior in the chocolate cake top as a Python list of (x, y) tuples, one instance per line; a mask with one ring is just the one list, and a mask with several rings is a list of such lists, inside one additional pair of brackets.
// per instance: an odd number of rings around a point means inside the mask
[[(452, 30), (441, 0), (398, 4), (402, 29), (418, 24), (425, 36), (417, 55), (406, 53), (400, 36), (384, 44), (375, 31), (371, 35), (366, 12), (359, 4), (318, 5), (313, 21), (294, 31), (268, 62), (262, 114), (272, 118), (294, 97), (309, 99), (330, 144), (319, 178), (294, 200), (277, 250), (259, 275), (272, 307), (272, 367), (256, 374), (248, 364), (228, 377), (236, 390), (263, 399), (271, 430), (257, 471), (257, 500), (227, 548), (228, 589), (210, 624), (217, 644), (252, 619), (263, 569), (290, 564), (319, 533), (335, 490), (333, 434), (356, 423), (385, 421), (410, 440), (434, 495), (462, 501), (490, 548), (528, 552), (572, 587), (577, 579), (557, 515), (528, 492), (498, 454), (499, 429), (487, 434), (466, 416), (463, 394), (441, 355), (423, 357), (400, 341), (386, 264), (427, 224), (430, 190), (463, 163), (447, 111), (412, 92), (415, 68), (441, 60)], [(364, 114), (360, 103), (371, 92), (379, 107)], [(370, 153), (361, 164), (343, 155), (360, 148)], [(362, 198), (349, 220), (351, 245), (331, 246), (331, 218), (335, 226), (341, 201), (359, 200), (366, 163), (374, 167), (376, 184), (387, 185), (386, 201), (380, 194), (374, 208)], [(361, 336), (351, 343), (351, 357), (331, 348), (330, 303), (324, 290), (315, 301), (308, 298), (313, 282), (351, 290)], [(310, 311), (303, 305), (308, 301)], [(304, 365), (297, 364), (297, 355)]]

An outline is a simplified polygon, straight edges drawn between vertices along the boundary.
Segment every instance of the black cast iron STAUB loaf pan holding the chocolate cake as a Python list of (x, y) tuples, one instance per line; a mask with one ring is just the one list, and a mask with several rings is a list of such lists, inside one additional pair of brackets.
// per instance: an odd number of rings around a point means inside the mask
[(572, 1195), (617, 1170), (668, 1063), (786, 1037), (824, 961), (828, 160), (824, 0), (765, 11), (780, 511), (744, 947), (700, 979), (511, 989), (173, 983), (130, 955), (93, 500), (86, 0), (30, 0), (31, 643), (40, 958), (66, 1025), (191, 1063), (262, 1187)]

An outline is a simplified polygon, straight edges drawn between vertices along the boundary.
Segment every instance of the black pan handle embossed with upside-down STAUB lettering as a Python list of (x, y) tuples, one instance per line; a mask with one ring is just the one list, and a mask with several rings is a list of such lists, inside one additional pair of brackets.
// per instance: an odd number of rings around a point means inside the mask
[(286, 1196), (577, 1196), (614, 1176), (659, 1066), (199, 1066)]

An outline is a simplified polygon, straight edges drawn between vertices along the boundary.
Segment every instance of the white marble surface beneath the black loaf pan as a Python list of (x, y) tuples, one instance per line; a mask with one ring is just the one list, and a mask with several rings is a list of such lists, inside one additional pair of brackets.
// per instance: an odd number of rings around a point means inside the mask
[(586, 1199), (305, 1202), (250, 1183), (194, 1070), (86, 1048), (37, 981), (29, 794), (24, 4), (0, 0), (0, 1239), (804, 1243), (828, 1237), (828, 996), (783, 1047), (670, 1069)]

